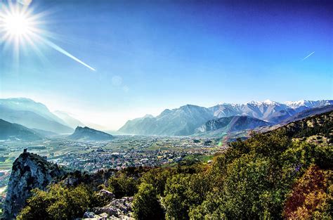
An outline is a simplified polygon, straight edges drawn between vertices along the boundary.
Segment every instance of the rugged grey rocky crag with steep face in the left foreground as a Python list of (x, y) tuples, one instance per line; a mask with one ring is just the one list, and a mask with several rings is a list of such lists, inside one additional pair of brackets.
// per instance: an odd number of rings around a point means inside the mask
[(44, 189), (51, 181), (65, 175), (58, 165), (47, 162), (34, 153), (22, 153), (13, 163), (4, 203), (5, 219), (14, 218), (29, 198), (34, 188)]

